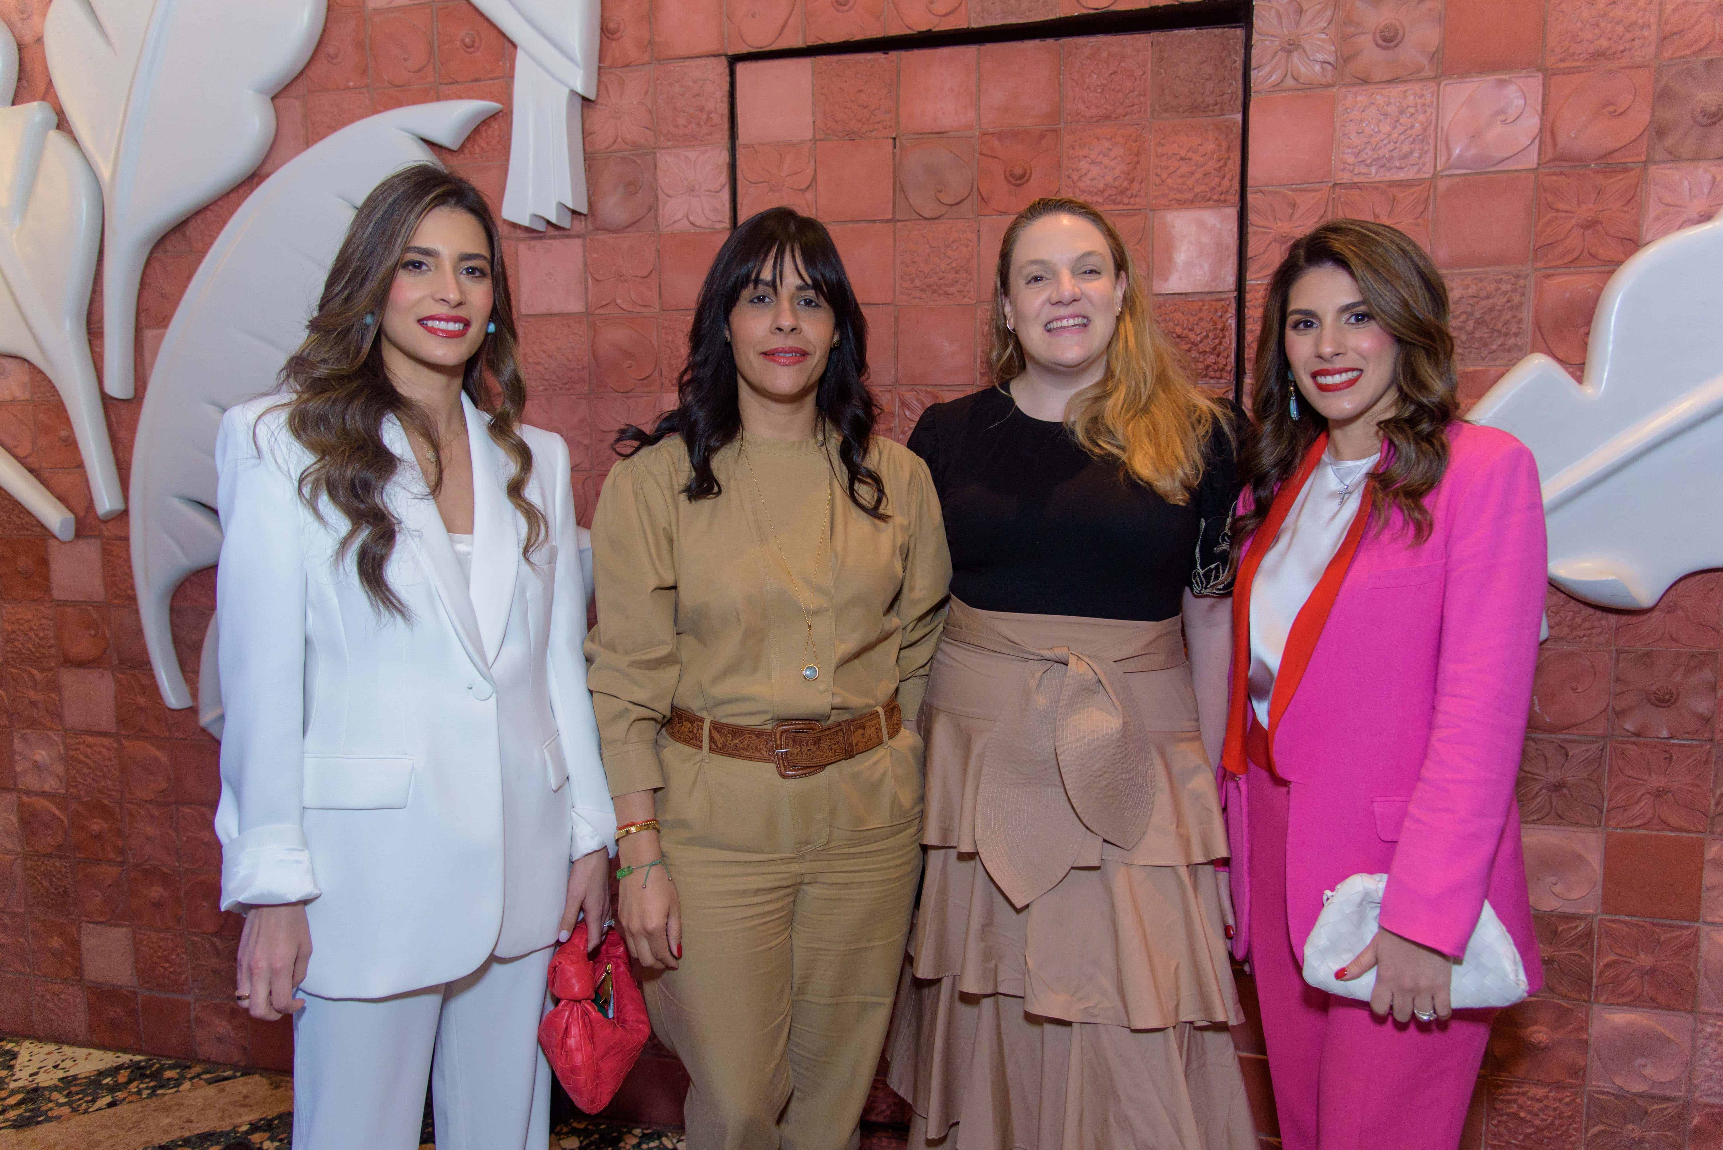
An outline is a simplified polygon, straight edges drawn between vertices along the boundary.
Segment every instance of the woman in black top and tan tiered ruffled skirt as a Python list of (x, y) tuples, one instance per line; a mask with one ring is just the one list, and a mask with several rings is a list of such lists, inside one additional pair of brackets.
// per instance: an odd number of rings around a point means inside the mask
[(953, 560), (889, 1040), (910, 1145), (1246, 1150), (1211, 771), (1234, 411), (1075, 200), (1005, 232), (994, 374), (910, 437)]

